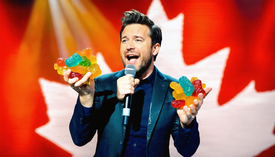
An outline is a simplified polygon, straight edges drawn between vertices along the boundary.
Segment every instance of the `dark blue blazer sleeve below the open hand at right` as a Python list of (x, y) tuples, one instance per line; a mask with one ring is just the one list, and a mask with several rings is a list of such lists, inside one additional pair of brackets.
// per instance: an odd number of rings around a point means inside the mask
[(180, 125), (179, 117), (177, 115), (174, 120), (172, 137), (174, 139), (174, 146), (182, 156), (192, 156), (200, 144), (200, 134), (196, 117), (191, 122), (189, 128), (183, 129)]

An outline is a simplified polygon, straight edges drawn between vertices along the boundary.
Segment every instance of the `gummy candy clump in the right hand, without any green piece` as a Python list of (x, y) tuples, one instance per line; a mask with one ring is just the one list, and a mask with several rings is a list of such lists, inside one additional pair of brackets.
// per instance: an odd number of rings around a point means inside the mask
[[(205, 96), (205, 87), (204, 83), (201, 83), (197, 77), (193, 77), (190, 81), (187, 77), (182, 76), (177, 82), (171, 82), (170, 87), (174, 89), (173, 97), (175, 100), (171, 102), (171, 105), (174, 108), (187, 106), (194, 103), (194, 100), (198, 98), (199, 93), (203, 93)], [(195, 107), (195, 106), (194, 106)]]

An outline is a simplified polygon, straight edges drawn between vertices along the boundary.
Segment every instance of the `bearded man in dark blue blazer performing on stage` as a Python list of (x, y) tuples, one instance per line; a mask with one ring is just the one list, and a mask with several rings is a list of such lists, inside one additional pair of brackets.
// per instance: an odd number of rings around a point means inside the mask
[[(169, 156), (170, 134), (174, 146), (183, 156), (192, 156), (200, 143), (196, 115), (203, 104), (203, 94), (189, 109), (173, 108), (170, 82), (177, 79), (161, 73), (154, 61), (160, 50), (162, 34), (144, 14), (130, 10), (124, 13), (120, 31), (120, 56), (125, 66), (133, 64), (135, 78), (124, 70), (89, 80), (87, 73), (81, 80), (64, 80), (79, 93), (70, 122), (74, 143), (85, 145), (97, 131), (94, 156)], [(84, 84), (90, 81), (90, 85)], [(211, 91), (205, 89), (206, 95)], [(130, 124), (122, 124), (124, 99), (132, 95)], [(195, 107), (194, 107), (195, 106)]]

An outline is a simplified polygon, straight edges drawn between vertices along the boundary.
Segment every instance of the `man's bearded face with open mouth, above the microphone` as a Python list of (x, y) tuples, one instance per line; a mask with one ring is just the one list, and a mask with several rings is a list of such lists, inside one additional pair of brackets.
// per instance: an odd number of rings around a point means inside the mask
[(127, 25), (121, 34), (120, 57), (124, 67), (133, 64), (136, 75), (142, 75), (153, 66), (150, 30), (146, 25)]

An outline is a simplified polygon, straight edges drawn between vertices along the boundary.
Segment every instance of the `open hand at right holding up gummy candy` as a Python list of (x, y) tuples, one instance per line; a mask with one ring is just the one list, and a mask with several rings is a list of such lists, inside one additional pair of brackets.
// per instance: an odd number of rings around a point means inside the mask
[(189, 124), (191, 124), (192, 120), (196, 117), (196, 115), (198, 114), (198, 111), (200, 110), (200, 107), (201, 105), (203, 104), (204, 102), (204, 98), (207, 96), (207, 94), (212, 90), (211, 87), (207, 87), (205, 89), (205, 96), (203, 96), (202, 93), (199, 93), (198, 97), (199, 97), (199, 100), (195, 99), (194, 100), (194, 105), (191, 104), (189, 106), (190, 108), (190, 111), (188, 109), (187, 106), (184, 106), (184, 107), (179, 107), (177, 108), (177, 113), (178, 113), (178, 116), (180, 118), (180, 121), (181, 121), (181, 126), (183, 128), (189, 126)]

